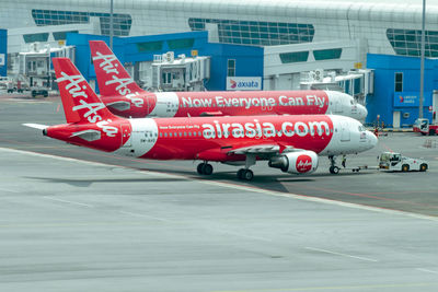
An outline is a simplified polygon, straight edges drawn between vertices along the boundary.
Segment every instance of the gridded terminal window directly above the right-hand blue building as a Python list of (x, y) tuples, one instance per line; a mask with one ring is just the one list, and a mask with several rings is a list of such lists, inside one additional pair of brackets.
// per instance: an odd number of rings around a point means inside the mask
[[(396, 55), (420, 56), (422, 31), (414, 30), (387, 30), (387, 37)], [(438, 32), (425, 32), (425, 56), (438, 57)]]

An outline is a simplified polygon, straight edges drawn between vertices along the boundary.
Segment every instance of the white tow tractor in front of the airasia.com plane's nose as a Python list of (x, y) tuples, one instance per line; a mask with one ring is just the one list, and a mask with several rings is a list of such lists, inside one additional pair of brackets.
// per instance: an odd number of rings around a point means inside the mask
[(380, 155), (379, 168), (392, 172), (426, 172), (429, 164), (422, 159), (410, 159), (396, 152), (383, 152)]

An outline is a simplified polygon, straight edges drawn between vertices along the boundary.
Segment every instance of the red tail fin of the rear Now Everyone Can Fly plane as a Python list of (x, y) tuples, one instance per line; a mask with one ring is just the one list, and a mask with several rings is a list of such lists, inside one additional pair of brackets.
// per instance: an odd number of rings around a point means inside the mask
[(146, 93), (131, 79), (105, 42), (90, 40), (90, 49), (101, 95)]

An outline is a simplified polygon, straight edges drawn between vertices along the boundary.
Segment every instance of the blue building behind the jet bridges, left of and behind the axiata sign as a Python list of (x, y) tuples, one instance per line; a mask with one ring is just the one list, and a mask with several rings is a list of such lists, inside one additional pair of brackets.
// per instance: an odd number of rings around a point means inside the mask
[[(91, 62), (89, 40), (105, 40), (107, 36), (73, 34), (67, 35), (67, 45), (76, 46), (76, 66), (88, 80), (95, 80)], [(134, 37), (114, 37), (113, 51), (122, 63), (135, 66), (139, 61), (153, 61), (153, 55), (174, 51), (174, 55), (191, 56), (196, 49), (199, 56), (210, 56), (210, 80), (205, 84), (208, 91), (226, 90), (230, 65), (235, 77), (263, 78), (263, 55), (261, 47), (208, 43), (208, 32), (191, 32)], [(230, 74), (230, 75), (232, 75)]]

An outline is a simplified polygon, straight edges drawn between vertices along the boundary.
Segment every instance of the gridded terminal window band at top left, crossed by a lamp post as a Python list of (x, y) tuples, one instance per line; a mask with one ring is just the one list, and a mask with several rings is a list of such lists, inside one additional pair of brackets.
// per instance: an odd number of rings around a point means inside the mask
[[(74, 23), (83, 24), (89, 23), (90, 17), (100, 17), (101, 34), (110, 35), (110, 13), (33, 9), (32, 16), (37, 26)], [(128, 36), (131, 24), (132, 19), (129, 14), (113, 14), (113, 30), (115, 36)]]

